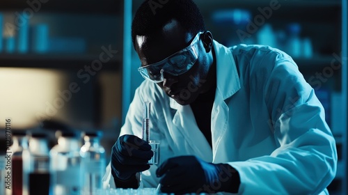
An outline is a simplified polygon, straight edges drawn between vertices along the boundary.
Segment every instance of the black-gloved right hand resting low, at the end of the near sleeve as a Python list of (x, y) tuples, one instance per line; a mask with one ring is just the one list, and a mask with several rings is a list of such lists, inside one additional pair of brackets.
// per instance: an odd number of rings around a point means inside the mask
[(186, 194), (237, 193), (239, 174), (229, 164), (212, 164), (194, 156), (167, 159), (156, 171), (161, 192)]

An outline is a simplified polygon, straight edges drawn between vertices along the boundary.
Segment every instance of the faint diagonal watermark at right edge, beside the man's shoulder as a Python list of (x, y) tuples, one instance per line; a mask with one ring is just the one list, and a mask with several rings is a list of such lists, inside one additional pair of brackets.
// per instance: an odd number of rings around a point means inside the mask
[(342, 56), (342, 52), (340, 55), (333, 53), (333, 59), (331, 59), (330, 65), (323, 68), (321, 72), (315, 72), (315, 75), (308, 78), (308, 83), (315, 90), (318, 90), (322, 87), (326, 81), (328, 81), (331, 77), (333, 77), (335, 71), (340, 70), (342, 68), (342, 62), (347, 61), (347, 56)]

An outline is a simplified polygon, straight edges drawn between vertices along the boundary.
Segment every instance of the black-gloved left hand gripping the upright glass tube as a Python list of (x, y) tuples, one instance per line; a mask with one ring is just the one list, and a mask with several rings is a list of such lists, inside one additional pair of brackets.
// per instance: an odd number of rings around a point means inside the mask
[(136, 188), (136, 173), (150, 169), (148, 160), (152, 156), (153, 152), (147, 141), (130, 134), (119, 137), (111, 150), (111, 173), (116, 187)]

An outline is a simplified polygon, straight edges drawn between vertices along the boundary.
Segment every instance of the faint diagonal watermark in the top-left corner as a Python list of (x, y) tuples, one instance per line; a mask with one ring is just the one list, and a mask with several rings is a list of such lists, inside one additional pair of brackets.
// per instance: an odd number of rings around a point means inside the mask
[(49, 0), (27, 0), (26, 4), (28, 7), (24, 8), (22, 13), (15, 12), (15, 24), (6, 22), (5, 27), (8, 33), (13, 32), (13, 30), (18, 31), (21, 27), (25, 26), (29, 22), (29, 19), (41, 10), (42, 4), (48, 1)]

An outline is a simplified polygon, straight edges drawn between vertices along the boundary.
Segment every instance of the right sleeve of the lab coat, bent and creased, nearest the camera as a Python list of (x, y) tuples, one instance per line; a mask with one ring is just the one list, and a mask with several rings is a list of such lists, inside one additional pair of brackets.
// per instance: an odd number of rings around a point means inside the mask
[(278, 148), (270, 155), (229, 162), (240, 194), (319, 194), (335, 176), (335, 140), (324, 108), (290, 57), (277, 55), (264, 79), (264, 104)]

